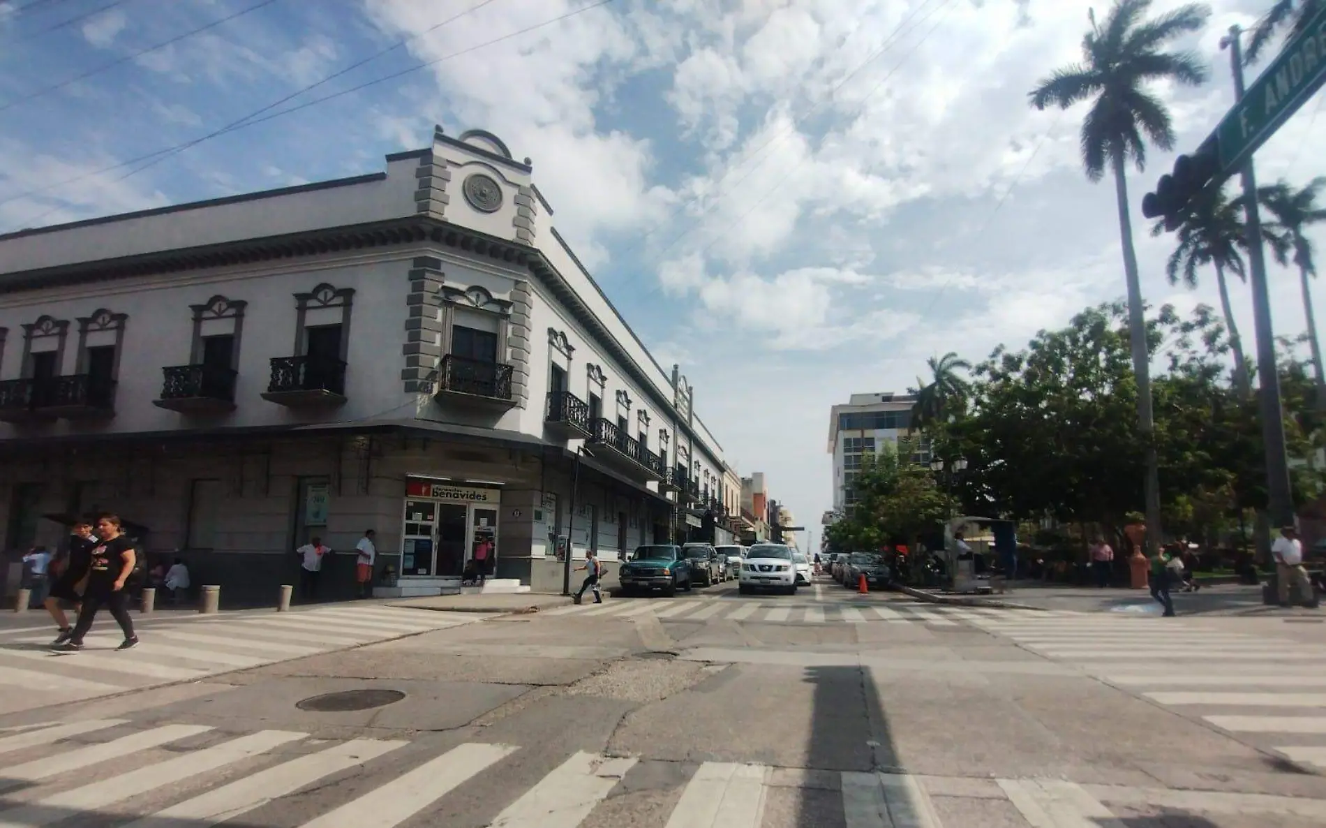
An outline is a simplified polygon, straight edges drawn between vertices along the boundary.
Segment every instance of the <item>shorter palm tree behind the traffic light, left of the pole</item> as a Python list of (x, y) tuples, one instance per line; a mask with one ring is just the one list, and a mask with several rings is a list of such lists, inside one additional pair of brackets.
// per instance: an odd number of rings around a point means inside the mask
[[(1156, 222), (1151, 235), (1164, 232), (1164, 222)], [(1235, 354), (1235, 387), (1248, 399), (1252, 397), (1252, 382), (1248, 374), (1248, 360), (1244, 357), (1238, 325), (1235, 324), (1233, 307), (1229, 303), (1229, 285), (1225, 273), (1233, 273), (1246, 281), (1242, 255), (1238, 248), (1246, 248), (1242, 226), (1242, 202), (1231, 200), (1224, 188), (1213, 191), (1193, 204), (1179, 226), (1177, 244), (1166, 263), (1166, 276), (1170, 284), (1177, 284), (1180, 277), (1189, 288), (1197, 287), (1197, 268), (1216, 268), (1216, 285), (1220, 288), (1220, 308), (1225, 314), (1225, 328), (1229, 330), (1229, 348)]]

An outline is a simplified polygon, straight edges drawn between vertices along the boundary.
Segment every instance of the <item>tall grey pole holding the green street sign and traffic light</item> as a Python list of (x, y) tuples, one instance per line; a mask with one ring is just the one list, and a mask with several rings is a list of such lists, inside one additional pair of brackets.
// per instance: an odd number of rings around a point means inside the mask
[[(1229, 27), (1229, 34), (1220, 40), (1220, 48), (1229, 49), (1229, 62), (1235, 76), (1235, 98), (1244, 97), (1242, 48), (1238, 41), (1242, 29)], [(1257, 176), (1252, 155), (1242, 163), (1244, 211), (1246, 215), (1248, 263), (1252, 287), (1253, 328), (1257, 340), (1257, 401), (1261, 413), (1261, 434), (1266, 447), (1268, 511), (1274, 525), (1294, 521), (1293, 498), (1289, 484), (1289, 459), (1285, 452), (1285, 417), (1280, 401), (1280, 372), (1276, 366), (1276, 336), (1270, 320), (1270, 293), (1266, 287), (1266, 256), (1262, 252), (1261, 211), (1257, 206)]]

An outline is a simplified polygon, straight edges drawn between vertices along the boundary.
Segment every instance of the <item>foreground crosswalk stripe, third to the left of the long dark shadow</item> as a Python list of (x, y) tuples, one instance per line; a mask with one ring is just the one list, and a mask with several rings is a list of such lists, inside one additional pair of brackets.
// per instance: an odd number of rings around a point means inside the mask
[(394, 828), (517, 750), (467, 742), (301, 828)]

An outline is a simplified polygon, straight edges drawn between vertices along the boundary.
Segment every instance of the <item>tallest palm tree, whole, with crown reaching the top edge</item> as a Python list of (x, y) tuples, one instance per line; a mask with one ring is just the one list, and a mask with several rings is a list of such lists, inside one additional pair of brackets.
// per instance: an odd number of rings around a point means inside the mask
[(1128, 288), (1128, 336), (1132, 340), (1132, 370), (1138, 378), (1138, 430), (1146, 451), (1147, 545), (1160, 537), (1160, 470), (1156, 458), (1155, 423), (1151, 411), (1150, 349), (1146, 310), (1138, 280), (1138, 255), (1132, 247), (1128, 216), (1127, 162), (1146, 167), (1143, 134), (1162, 150), (1174, 147), (1174, 123), (1164, 104), (1144, 89), (1150, 81), (1175, 81), (1196, 86), (1205, 68), (1188, 52), (1166, 52), (1171, 40), (1196, 32), (1211, 9), (1188, 4), (1144, 20), (1151, 0), (1115, 0), (1105, 24), (1089, 15), (1091, 29), (1082, 37), (1082, 62), (1057, 69), (1030, 93), (1032, 106), (1055, 105), (1067, 109), (1094, 98), (1082, 122), (1082, 163), (1090, 180), (1105, 176), (1106, 165), (1114, 172), (1114, 195), (1119, 208), (1119, 240), (1123, 245), (1123, 275)]

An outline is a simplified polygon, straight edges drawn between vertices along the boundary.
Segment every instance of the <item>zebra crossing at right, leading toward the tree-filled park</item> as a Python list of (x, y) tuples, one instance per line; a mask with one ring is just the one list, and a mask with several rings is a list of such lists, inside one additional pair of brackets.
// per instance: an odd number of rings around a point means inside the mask
[(1326, 646), (1192, 618), (981, 618), (977, 626), (1326, 768)]

